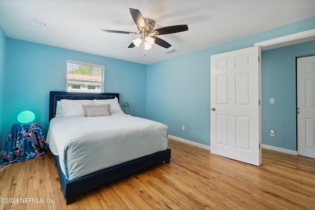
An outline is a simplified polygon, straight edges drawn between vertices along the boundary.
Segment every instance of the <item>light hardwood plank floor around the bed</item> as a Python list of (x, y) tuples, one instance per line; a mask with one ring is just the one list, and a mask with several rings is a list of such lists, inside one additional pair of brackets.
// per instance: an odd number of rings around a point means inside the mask
[(0, 210), (315, 209), (315, 159), (263, 149), (257, 167), (172, 139), (169, 148), (169, 164), (90, 190), (68, 206), (50, 152), (13, 163), (0, 171), (0, 198), (18, 203), (0, 203)]

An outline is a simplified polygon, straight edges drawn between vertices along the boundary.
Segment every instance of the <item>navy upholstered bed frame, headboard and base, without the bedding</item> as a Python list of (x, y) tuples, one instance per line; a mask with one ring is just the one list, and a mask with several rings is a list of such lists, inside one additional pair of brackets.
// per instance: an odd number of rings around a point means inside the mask
[[(81, 93), (81, 92), (64, 92), (64, 91), (50, 91), (49, 95), (49, 121), (56, 115), (57, 101), (61, 99), (112, 99), (117, 97), (119, 100), (119, 93)], [(110, 168), (106, 168), (92, 174), (80, 177), (74, 180), (66, 180), (63, 171), (59, 164), (59, 156), (54, 155), (56, 167), (58, 169), (63, 195), (66, 204), (71, 204), (75, 201), (76, 196), (91, 190), (95, 187), (109, 183), (113, 180), (120, 179), (134, 172), (143, 170), (150, 166), (165, 161), (170, 162), (171, 150), (166, 149), (156, 153), (140, 157), (135, 160), (128, 161)]]

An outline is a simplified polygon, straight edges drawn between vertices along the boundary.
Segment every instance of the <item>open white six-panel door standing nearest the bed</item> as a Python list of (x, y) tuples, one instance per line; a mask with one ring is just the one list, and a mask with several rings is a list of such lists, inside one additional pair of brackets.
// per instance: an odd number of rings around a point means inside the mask
[(260, 49), (211, 56), (211, 153), (259, 166)]

